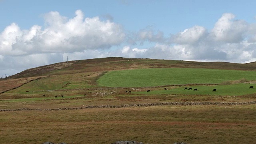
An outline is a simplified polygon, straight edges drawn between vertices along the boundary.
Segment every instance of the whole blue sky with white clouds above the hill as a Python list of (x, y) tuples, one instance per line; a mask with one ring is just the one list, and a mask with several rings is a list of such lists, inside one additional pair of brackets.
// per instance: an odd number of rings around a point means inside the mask
[(0, 0), (0, 78), (105, 57), (256, 61), (256, 0)]

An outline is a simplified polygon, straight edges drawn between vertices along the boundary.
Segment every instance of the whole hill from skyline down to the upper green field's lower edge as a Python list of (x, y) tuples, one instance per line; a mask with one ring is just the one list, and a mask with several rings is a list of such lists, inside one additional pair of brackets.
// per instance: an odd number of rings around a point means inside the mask
[(10, 79), (2, 79), (0, 92), (12, 89), (15, 89), (13, 92), (25, 92), (102, 86), (220, 84), (228, 80), (256, 80), (255, 71), (255, 62), (236, 64), (120, 57), (96, 58), (30, 68), (11, 76)]

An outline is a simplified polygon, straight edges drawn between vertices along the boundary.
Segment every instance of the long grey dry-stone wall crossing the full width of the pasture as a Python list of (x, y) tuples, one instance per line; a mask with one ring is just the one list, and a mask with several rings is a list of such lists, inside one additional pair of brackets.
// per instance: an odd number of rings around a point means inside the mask
[(192, 106), (192, 105), (224, 105), (224, 106), (235, 106), (235, 105), (250, 105), (256, 104), (256, 101), (252, 102), (160, 102), (160, 103), (146, 103), (146, 104), (123, 104), (117, 106), (111, 105), (98, 105), (98, 106), (86, 106), (78, 108), (53, 108), (53, 109), (41, 109), (41, 108), (19, 108), (19, 109), (3, 109), (0, 112), (6, 111), (59, 111), (59, 110), (82, 110), (88, 108), (127, 108), (127, 107), (148, 107), (148, 106)]

